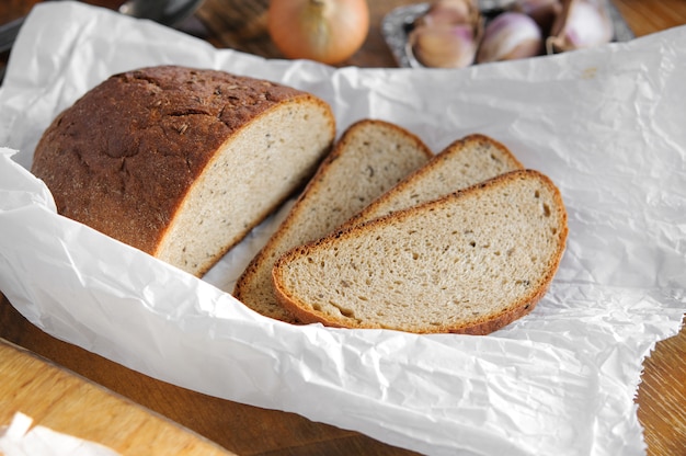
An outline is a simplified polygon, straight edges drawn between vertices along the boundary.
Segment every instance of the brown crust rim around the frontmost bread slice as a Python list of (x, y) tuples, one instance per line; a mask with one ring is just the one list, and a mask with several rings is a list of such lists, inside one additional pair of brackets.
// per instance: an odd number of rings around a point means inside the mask
[[(411, 332), (444, 332), (444, 333), (461, 333), (461, 334), (473, 334), (473, 335), (484, 335), (489, 334), (493, 331), (496, 331), (511, 322), (522, 318), (523, 316), (530, 312), (538, 301), (545, 296), (547, 293), (550, 283), (559, 264), (562, 260), (562, 255), (564, 253), (564, 247), (568, 237), (568, 224), (567, 224), (567, 212), (564, 209), (564, 204), (562, 202), (562, 196), (559, 193), (558, 189), (554, 186), (552, 181), (546, 176), (534, 170), (517, 170), (511, 171), (505, 174), (501, 174), (496, 178), (490, 179), (485, 182), (472, 185), (471, 187), (455, 192), (450, 195), (447, 195), (443, 198), (425, 203), (420, 206), (415, 206), (409, 209), (399, 210), (393, 214), (377, 218), (375, 220), (367, 221), (357, 226), (347, 226), (342, 230), (327, 237), (320, 239), (316, 242), (297, 247), (284, 255), (275, 263), (274, 269), (272, 271), (272, 278), (274, 283), (276, 297), (282, 306), (288, 309), (299, 321), (304, 323), (316, 323), (320, 322), (324, 326), (329, 327), (338, 327), (338, 328), (359, 328), (359, 329), (378, 329), (380, 328), (376, 323), (369, 323), (364, 320), (353, 320), (347, 318), (338, 318), (330, 314), (325, 314), (322, 311), (318, 311), (311, 308), (308, 303), (302, 301), (297, 295), (290, 293), (288, 288), (285, 286), (285, 282), (283, 278), (284, 270), (288, 269), (288, 263), (298, 256), (307, 256), (310, 252), (317, 249), (331, 249), (335, 248), (339, 239), (345, 238), (355, 238), (357, 236), (364, 236), (366, 231), (374, 230), (376, 226), (381, 226), (386, 224), (402, 224), (403, 219), (413, 217), (419, 212), (431, 212), (434, 207), (439, 207), (444, 204), (449, 204), (451, 202), (457, 202), (462, 197), (469, 197), (470, 194), (476, 192), (481, 192), (483, 189), (495, 185), (506, 184), (508, 181), (516, 179), (529, 179), (530, 175), (535, 175), (537, 179), (540, 179), (545, 185), (549, 186), (552, 190), (554, 207), (552, 208), (556, 213), (556, 216), (560, 219), (560, 227), (558, 231), (552, 235), (556, 237), (556, 243), (558, 244), (558, 250), (553, 258), (550, 259), (550, 266), (547, 270), (545, 276), (540, 277), (539, 286), (529, 290), (529, 293), (523, 296), (521, 299), (514, 303), (510, 303), (498, 315), (490, 315), (484, 318), (478, 319), (476, 321), (470, 322), (469, 324), (462, 326), (435, 326), (430, 328), (428, 330), (416, 330), (413, 331), (411, 328), (403, 328), (401, 330), (411, 331)], [(399, 328), (392, 328), (399, 329)]]

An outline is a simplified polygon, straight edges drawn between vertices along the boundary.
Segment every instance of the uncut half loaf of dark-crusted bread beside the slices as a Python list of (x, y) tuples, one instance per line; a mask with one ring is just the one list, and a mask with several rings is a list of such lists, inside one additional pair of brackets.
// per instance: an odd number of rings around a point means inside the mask
[(60, 214), (202, 276), (306, 183), (334, 136), (331, 107), (312, 94), (150, 67), (59, 114), (32, 171)]

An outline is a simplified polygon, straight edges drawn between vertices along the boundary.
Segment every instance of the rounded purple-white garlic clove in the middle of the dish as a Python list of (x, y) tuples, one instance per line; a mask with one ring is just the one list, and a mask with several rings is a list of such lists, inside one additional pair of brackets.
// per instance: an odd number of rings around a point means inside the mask
[(477, 62), (512, 60), (541, 54), (542, 33), (530, 16), (508, 11), (485, 26)]

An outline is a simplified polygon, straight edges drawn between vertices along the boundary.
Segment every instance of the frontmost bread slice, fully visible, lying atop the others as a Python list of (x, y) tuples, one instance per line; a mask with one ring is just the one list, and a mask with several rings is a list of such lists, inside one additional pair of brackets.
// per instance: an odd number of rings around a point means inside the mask
[(487, 334), (531, 311), (567, 233), (558, 189), (517, 170), (295, 248), (273, 281), (302, 322)]

